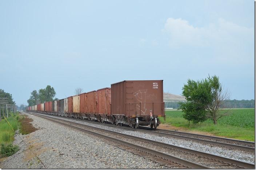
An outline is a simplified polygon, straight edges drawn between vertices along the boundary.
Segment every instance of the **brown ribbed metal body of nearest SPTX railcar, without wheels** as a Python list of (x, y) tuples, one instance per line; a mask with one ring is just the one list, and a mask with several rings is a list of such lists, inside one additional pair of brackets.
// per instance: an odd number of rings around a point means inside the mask
[(164, 116), (163, 80), (121, 81), (111, 84), (112, 114)]

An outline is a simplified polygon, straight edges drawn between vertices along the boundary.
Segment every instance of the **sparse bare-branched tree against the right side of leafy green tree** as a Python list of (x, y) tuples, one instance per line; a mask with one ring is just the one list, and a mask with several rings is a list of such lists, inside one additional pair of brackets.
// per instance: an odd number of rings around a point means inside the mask
[(220, 88), (216, 90), (215, 97), (212, 99), (211, 104), (209, 104), (206, 108), (208, 110), (207, 117), (213, 120), (213, 123), (216, 125), (219, 118), (223, 116), (227, 116), (230, 109), (225, 109), (222, 107), (225, 102), (229, 100), (230, 93), (228, 90), (223, 90)]

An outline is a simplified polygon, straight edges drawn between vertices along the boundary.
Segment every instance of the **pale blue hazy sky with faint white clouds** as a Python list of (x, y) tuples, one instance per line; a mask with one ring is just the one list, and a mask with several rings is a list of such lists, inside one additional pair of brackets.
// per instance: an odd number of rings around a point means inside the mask
[(56, 97), (123, 80), (217, 75), (231, 99), (254, 99), (253, 0), (1, 0), (0, 89), (27, 104), (51, 85)]

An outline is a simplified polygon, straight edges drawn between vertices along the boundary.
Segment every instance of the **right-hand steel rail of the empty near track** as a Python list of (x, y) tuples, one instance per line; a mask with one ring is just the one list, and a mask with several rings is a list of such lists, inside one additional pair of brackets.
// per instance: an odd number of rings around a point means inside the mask
[[(45, 116), (44, 115), (42, 117), (49, 117), (49, 116)], [(51, 117), (51, 118), (53, 118), (53, 117)], [(58, 119), (58, 118), (54, 118), (54, 119)], [(71, 121), (62, 120), (62, 119), (58, 119), (58, 120), (61, 120), (61, 121), (64, 121), (64, 122), (68, 122), (68, 123), (71, 122)], [(75, 124), (75, 125), (83, 126), (83, 127), (86, 127), (86, 128), (93, 128), (93, 129), (96, 129), (96, 130), (106, 131), (108, 133), (112, 133), (112, 134), (116, 134), (116, 135), (121, 135), (121, 136), (127, 137), (129, 139), (135, 139), (135, 140), (139, 140), (139, 141), (143, 141), (143, 142), (147, 142), (147, 143), (152, 143), (154, 145), (159, 145), (159, 146), (167, 147), (167, 148), (170, 148), (170, 149), (176, 149), (176, 150), (184, 151), (184, 152), (187, 152), (187, 153), (200, 155), (202, 157), (212, 158), (212, 159), (215, 159), (215, 160), (218, 160), (218, 161), (221, 161), (221, 162), (225, 162), (225, 163), (228, 163), (228, 164), (231, 164), (231, 165), (235, 164), (237, 166), (242, 166), (242, 167), (248, 168), (248, 169), (254, 169), (255, 168), (255, 165), (252, 164), (252, 163), (238, 161), (238, 160), (235, 160), (235, 159), (231, 159), (231, 158), (227, 158), (227, 157), (222, 157), (222, 156), (219, 156), (219, 155), (214, 155), (214, 154), (209, 154), (209, 153), (204, 153), (202, 151), (196, 151), (196, 150), (187, 149), (187, 148), (179, 147), (179, 146), (175, 146), (175, 145), (170, 145), (170, 144), (163, 143), (163, 142), (152, 141), (150, 139), (135, 137), (135, 136), (132, 136), (132, 135), (127, 135), (127, 134), (123, 134), (123, 133), (119, 133), (119, 132), (115, 132), (115, 131), (111, 131), (111, 130), (96, 128), (96, 127), (92, 127), (92, 126), (88, 126), (88, 125), (84, 125), (84, 124), (79, 124), (79, 123), (76, 123), (76, 122), (71, 122), (71, 123)]]

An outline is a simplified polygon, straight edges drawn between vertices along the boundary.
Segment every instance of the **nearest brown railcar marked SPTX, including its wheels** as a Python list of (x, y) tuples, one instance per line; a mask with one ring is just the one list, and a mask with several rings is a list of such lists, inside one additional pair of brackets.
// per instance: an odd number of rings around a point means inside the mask
[(122, 81), (111, 84), (111, 122), (156, 128), (164, 115), (163, 80)]

